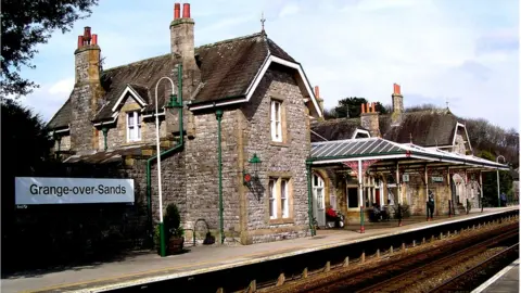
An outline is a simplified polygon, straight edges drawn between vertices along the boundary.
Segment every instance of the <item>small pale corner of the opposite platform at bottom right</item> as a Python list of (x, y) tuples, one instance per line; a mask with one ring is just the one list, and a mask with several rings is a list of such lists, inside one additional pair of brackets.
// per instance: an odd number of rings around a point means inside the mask
[(471, 293), (516, 293), (519, 292), (519, 258), (500, 270)]

